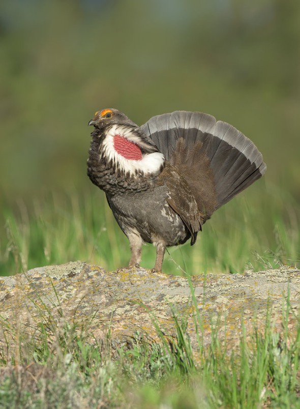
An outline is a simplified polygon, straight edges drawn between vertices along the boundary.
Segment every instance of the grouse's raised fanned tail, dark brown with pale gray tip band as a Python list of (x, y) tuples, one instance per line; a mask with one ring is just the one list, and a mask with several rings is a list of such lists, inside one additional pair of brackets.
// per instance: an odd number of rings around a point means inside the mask
[(141, 129), (186, 175), (206, 218), (266, 171), (255, 144), (212, 115), (175, 111), (154, 116)]

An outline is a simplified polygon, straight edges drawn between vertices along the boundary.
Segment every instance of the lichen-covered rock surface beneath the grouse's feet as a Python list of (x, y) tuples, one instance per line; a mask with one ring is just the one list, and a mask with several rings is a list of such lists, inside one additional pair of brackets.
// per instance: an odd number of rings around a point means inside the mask
[(19, 328), (28, 336), (36, 334), (39, 323), (47, 319), (65, 319), (78, 324), (78, 328), (88, 322), (91, 342), (106, 339), (110, 331), (115, 350), (130, 342), (135, 331), (158, 341), (154, 319), (164, 333), (172, 336), (173, 313), (179, 320), (187, 320), (192, 346), (196, 346), (197, 309), (204, 344), (209, 344), (212, 329), (218, 325), (220, 339), (226, 337), (227, 344), (234, 346), (243, 324), (248, 332), (254, 322), (263, 327), (267, 307), (271, 307), (274, 326), (280, 331), (282, 306), (288, 294), (292, 330), (300, 299), (299, 284), (300, 270), (292, 267), (245, 275), (198, 275), (191, 277), (189, 284), (185, 277), (144, 269), (106, 272), (76, 261), (0, 277), (0, 315), (3, 328)]

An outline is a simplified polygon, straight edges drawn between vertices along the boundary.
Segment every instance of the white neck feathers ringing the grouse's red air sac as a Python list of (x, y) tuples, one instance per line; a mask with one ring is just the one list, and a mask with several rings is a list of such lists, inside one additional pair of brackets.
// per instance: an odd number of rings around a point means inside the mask
[(165, 161), (165, 157), (162, 153), (154, 152), (151, 154), (144, 154), (141, 160), (124, 158), (124, 156), (120, 155), (114, 149), (113, 137), (116, 135), (123, 136), (138, 144), (139, 137), (132, 133), (130, 129), (122, 125), (113, 125), (102, 142), (103, 153), (100, 154), (101, 156), (103, 155), (108, 160), (112, 160), (114, 163), (117, 163), (121, 170), (130, 172), (133, 175), (136, 171), (143, 172), (144, 174), (159, 174), (161, 166)]

